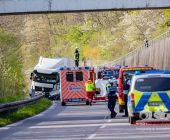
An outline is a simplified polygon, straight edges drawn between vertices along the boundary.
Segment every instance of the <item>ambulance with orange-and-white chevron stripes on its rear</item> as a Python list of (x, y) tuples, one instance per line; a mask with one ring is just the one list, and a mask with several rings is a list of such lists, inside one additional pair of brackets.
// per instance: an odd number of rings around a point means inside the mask
[[(85, 82), (90, 78), (95, 85), (94, 68), (62, 67), (60, 71), (61, 105), (65, 106), (67, 102), (85, 102), (88, 105)], [(95, 94), (95, 89), (93, 94)]]

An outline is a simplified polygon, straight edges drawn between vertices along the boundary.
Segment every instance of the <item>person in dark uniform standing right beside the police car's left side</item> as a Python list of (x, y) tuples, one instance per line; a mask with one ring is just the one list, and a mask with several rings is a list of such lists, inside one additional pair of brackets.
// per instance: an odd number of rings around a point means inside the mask
[(128, 78), (128, 73), (124, 73), (124, 83), (123, 83), (123, 94), (124, 94), (124, 102), (125, 102), (125, 115), (122, 117), (128, 117), (128, 110), (127, 110), (127, 101), (128, 101), (128, 93), (130, 89), (131, 80)]

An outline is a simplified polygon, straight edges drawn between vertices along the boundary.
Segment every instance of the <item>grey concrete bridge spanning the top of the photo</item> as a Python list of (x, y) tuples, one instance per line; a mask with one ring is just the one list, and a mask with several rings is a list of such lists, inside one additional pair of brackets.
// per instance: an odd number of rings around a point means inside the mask
[(0, 14), (170, 8), (170, 0), (0, 0)]

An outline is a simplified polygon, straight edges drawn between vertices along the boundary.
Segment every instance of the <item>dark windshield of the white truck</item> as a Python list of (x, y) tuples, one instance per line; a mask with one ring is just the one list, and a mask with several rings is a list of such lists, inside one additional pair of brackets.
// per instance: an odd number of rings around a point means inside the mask
[(34, 73), (34, 81), (40, 83), (56, 83), (56, 75)]

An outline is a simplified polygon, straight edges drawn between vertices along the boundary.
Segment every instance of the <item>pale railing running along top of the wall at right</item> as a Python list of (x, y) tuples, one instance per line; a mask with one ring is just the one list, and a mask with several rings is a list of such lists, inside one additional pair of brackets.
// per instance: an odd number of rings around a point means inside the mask
[(118, 59), (116, 59), (116, 60), (114, 60), (114, 61), (111, 61), (111, 62), (109, 62), (109, 63), (104, 63), (104, 64), (100, 64), (100, 65), (93, 65), (93, 67), (95, 67), (95, 69), (98, 69), (98, 67), (101, 67), (101, 66), (110, 67), (110, 66), (112, 66), (112, 65), (115, 65), (115, 64), (117, 64), (118, 62), (124, 60), (125, 58), (128, 58), (129, 56), (132, 56), (132, 55), (140, 52), (141, 50), (144, 50), (145, 48), (147, 48), (147, 47), (149, 47), (149, 46), (151, 46), (151, 45), (153, 45), (153, 44), (155, 44), (155, 43), (157, 43), (157, 42), (159, 42), (159, 41), (161, 41), (161, 40), (163, 40), (163, 39), (165, 39), (165, 38), (167, 38), (167, 37), (170, 37), (170, 28), (169, 28), (169, 31), (168, 31), (168, 32), (165, 32), (165, 33), (161, 34), (160, 36), (152, 39), (152, 40), (149, 41), (147, 44), (144, 43), (142, 46), (136, 48), (135, 50), (129, 52), (128, 54), (126, 54), (126, 55), (124, 55), (124, 56), (122, 56), (122, 57), (120, 57), (120, 58), (118, 58)]

